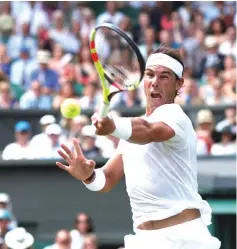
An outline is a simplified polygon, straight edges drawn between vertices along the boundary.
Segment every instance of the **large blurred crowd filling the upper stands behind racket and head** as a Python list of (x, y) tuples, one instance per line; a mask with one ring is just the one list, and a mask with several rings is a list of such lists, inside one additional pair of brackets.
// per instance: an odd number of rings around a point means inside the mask
[[(96, 24), (103, 22), (125, 31), (145, 59), (160, 44), (181, 50), (186, 81), (177, 103), (235, 103), (234, 1), (108, 1), (101, 13), (92, 5), (67, 1), (1, 2), (0, 108), (58, 109), (69, 97), (77, 99), (84, 109), (96, 108), (101, 94), (89, 35)], [(120, 94), (112, 106), (143, 107), (145, 98), (141, 92), (139, 89)]]

